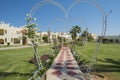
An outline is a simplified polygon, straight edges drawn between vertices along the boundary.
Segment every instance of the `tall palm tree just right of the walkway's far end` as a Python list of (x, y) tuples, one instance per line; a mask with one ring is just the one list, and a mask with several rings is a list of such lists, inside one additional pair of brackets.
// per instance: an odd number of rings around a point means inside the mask
[(72, 27), (70, 34), (74, 41), (76, 41), (77, 34), (79, 34), (80, 32), (81, 32), (81, 27), (77, 25)]

